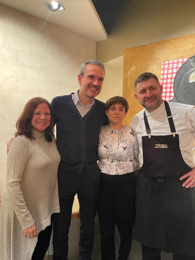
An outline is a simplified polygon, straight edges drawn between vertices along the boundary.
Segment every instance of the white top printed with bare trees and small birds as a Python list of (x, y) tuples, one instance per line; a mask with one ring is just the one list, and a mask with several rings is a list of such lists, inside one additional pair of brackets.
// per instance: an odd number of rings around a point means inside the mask
[(138, 154), (138, 141), (131, 128), (125, 126), (113, 130), (109, 125), (101, 127), (98, 165), (102, 172), (112, 175), (132, 172), (139, 167)]

